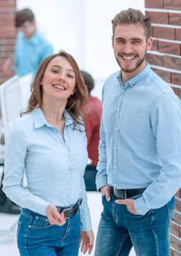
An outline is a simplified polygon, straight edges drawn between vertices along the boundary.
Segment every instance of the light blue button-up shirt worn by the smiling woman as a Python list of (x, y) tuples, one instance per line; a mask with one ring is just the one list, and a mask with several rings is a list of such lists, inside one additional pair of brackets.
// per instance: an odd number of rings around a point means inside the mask
[[(83, 175), (88, 162), (85, 129), (65, 110), (63, 136), (40, 108), (18, 118), (6, 140), (3, 190), (23, 208), (46, 215), (49, 203), (69, 207), (82, 198), (82, 230), (92, 230)], [(80, 132), (80, 129), (83, 132)], [(26, 170), (27, 187), (23, 187)]]

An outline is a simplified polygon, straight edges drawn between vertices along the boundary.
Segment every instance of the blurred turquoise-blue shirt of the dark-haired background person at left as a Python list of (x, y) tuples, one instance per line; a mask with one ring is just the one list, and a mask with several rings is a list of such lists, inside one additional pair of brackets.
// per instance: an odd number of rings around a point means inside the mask
[(22, 77), (35, 73), (39, 64), (53, 54), (53, 47), (36, 31), (30, 39), (18, 33), (15, 43), (15, 73)]

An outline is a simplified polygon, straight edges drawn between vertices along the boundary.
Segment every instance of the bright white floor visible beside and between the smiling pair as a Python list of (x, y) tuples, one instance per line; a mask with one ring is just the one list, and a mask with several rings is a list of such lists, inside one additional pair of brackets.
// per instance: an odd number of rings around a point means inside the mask
[[(97, 227), (101, 214), (101, 195), (99, 192), (88, 192), (88, 205), (93, 224), (93, 232), (96, 236)], [(18, 216), (0, 213), (0, 256), (18, 256), (16, 246), (16, 228)], [(94, 254), (94, 251), (91, 255)], [(79, 256), (83, 254), (80, 252)], [(86, 254), (88, 255), (88, 254)], [(130, 256), (135, 256), (134, 250), (131, 250)]]

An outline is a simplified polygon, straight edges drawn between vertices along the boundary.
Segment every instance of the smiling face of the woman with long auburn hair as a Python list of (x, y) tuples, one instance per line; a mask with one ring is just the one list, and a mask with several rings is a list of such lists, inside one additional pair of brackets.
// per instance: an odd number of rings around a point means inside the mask
[(76, 78), (74, 69), (69, 61), (63, 56), (53, 58), (43, 75), (41, 86), (43, 101), (67, 102), (67, 99), (74, 94)]

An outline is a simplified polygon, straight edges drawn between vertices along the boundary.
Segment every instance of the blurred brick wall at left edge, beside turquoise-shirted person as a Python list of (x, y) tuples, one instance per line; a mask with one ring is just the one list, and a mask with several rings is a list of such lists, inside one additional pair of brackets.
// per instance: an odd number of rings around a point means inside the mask
[(12, 77), (13, 72), (3, 72), (4, 61), (13, 55), (16, 31), (14, 13), (16, 0), (0, 0), (0, 84)]

